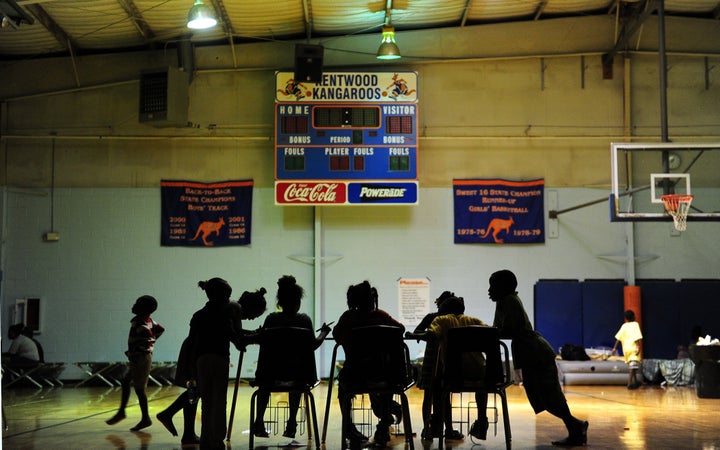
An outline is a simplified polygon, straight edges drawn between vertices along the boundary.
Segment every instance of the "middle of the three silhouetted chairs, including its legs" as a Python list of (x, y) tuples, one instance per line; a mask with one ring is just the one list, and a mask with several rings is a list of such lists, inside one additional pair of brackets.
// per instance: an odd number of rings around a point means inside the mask
[(404, 421), (405, 444), (413, 442), (410, 406), (405, 392), (415, 385), (410, 352), (401, 328), (374, 325), (352, 329), (345, 350), (345, 364), (338, 376), (342, 411), (342, 447), (347, 448), (352, 399), (363, 394), (388, 394), (400, 397)]

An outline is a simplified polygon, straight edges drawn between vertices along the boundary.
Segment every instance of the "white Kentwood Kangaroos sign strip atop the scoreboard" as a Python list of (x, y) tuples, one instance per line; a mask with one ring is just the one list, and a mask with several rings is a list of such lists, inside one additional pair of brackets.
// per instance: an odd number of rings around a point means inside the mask
[(326, 72), (317, 83), (277, 72), (275, 83), (278, 102), (417, 101), (416, 72)]

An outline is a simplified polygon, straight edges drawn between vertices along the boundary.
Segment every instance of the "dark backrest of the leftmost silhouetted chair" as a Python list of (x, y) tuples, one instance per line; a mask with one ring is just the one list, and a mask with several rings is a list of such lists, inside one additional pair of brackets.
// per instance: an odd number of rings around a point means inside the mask
[(264, 328), (258, 336), (260, 352), (256, 386), (278, 382), (312, 385), (317, 382), (315, 334), (297, 327)]

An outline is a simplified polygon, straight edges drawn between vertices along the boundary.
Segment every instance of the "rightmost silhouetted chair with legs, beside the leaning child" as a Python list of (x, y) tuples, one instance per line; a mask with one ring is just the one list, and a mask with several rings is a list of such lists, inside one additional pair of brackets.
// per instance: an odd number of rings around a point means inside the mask
[[(463, 354), (480, 352), (485, 357), (484, 378), (469, 374), (465, 368)], [(512, 439), (510, 416), (508, 413), (507, 394), (505, 389), (512, 384), (510, 355), (507, 345), (500, 340), (497, 328), (471, 325), (451, 328), (447, 333), (445, 358), (441, 375), (442, 395), (449, 396), (462, 392), (486, 392), (500, 396), (502, 403), (503, 426), (505, 428), (505, 447), (510, 449)], [(493, 406), (495, 409), (495, 407)], [(468, 417), (469, 422), (469, 417)], [(497, 425), (495, 420), (490, 423)], [(469, 429), (469, 423), (468, 423)], [(440, 448), (442, 448), (440, 437)]]

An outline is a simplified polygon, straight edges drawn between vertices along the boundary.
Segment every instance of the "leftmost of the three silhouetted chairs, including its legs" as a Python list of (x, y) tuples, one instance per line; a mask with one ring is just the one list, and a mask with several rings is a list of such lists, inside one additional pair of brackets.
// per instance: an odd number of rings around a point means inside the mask
[[(261, 390), (300, 393), (305, 403), (309, 440), (320, 450), (317, 411), (312, 390), (320, 383), (315, 368), (315, 334), (313, 330), (296, 327), (265, 328), (258, 336), (258, 354), (255, 380), (250, 383), (257, 389), (250, 397), (250, 448), (254, 448), (253, 424)], [(312, 427), (312, 429), (311, 429)]]

